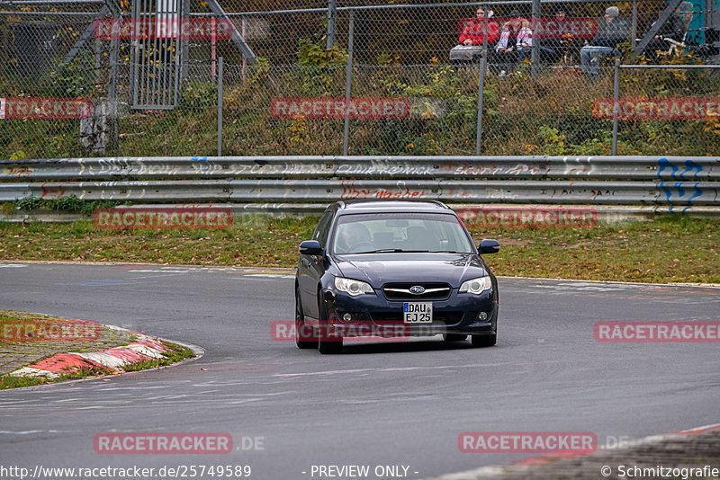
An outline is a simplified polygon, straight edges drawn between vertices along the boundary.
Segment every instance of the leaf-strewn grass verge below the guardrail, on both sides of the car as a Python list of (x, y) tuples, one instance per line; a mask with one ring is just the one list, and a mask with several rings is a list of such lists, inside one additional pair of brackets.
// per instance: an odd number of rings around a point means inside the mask
[[(0, 223), (0, 259), (294, 267), (318, 218), (236, 219), (229, 230), (98, 230), (91, 222)], [(495, 238), (497, 275), (720, 283), (720, 221), (671, 215), (593, 228), (471, 228)]]

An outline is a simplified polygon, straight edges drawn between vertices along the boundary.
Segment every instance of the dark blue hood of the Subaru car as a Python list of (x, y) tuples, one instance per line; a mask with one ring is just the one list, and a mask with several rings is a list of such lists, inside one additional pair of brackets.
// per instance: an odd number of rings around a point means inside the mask
[(344, 277), (375, 289), (388, 282), (446, 281), (455, 289), (464, 280), (488, 274), (474, 253), (365, 253), (334, 258)]

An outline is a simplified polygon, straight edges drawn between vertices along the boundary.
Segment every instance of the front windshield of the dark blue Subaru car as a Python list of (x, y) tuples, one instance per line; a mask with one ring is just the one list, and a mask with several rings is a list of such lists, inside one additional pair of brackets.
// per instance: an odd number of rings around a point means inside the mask
[(473, 253), (473, 244), (454, 215), (379, 213), (338, 218), (333, 253)]

